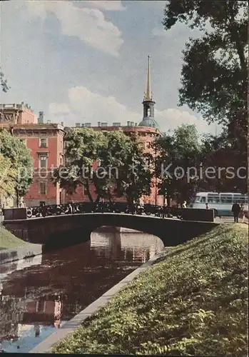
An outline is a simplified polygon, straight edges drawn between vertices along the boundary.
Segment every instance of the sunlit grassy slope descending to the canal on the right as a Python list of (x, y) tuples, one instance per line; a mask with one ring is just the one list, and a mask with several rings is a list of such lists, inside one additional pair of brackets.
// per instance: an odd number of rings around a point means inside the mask
[(54, 353), (247, 356), (248, 226), (223, 224), (166, 254)]

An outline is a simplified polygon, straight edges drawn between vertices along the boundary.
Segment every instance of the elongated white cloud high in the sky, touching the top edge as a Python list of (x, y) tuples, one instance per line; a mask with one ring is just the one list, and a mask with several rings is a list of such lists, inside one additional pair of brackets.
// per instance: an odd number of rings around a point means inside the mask
[(38, 16), (44, 20), (49, 12), (56, 15), (63, 35), (76, 36), (96, 49), (118, 56), (123, 44), (121, 32), (105, 19), (100, 10), (79, 8), (71, 1), (32, 0), (26, 1), (25, 5), (29, 16)]

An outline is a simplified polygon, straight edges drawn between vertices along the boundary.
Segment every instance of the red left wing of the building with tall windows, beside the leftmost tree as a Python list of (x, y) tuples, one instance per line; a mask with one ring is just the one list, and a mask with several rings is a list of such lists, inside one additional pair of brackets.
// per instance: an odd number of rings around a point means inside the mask
[[(34, 159), (34, 182), (24, 196), (26, 206), (63, 203), (59, 185), (51, 182), (51, 170), (63, 164), (63, 137), (61, 124), (44, 123), (43, 113), (39, 119), (31, 108), (24, 104), (0, 105), (0, 129), (11, 129), (28, 149)], [(15, 201), (0, 198), (1, 206), (14, 206)]]

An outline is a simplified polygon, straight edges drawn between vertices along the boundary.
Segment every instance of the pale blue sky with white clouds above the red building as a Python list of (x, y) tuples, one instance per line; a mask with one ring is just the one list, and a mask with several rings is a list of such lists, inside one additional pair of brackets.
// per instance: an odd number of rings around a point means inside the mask
[[(0, 66), (11, 89), (2, 104), (27, 103), (44, 120), (75, 126), (139, 123), (147, 56), (155, 119), (161, 131), (195, 124), (200, 114), (178, 106), (181, 51), (197, 31), (163, 29), (166, 1), (1, 1)], [(216, 130), (220, 130), (216, 128)]]

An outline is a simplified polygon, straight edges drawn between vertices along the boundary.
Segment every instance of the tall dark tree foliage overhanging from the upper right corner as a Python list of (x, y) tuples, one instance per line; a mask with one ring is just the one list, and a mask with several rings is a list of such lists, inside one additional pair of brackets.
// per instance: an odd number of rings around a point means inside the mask
[(222, 124), (232, 149), (247, 162), (248, 4), (245, 1), (168, 1), (163, 24), (202, 31), (183, 51), (180, 104)]

